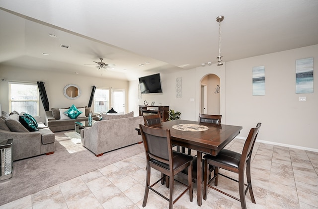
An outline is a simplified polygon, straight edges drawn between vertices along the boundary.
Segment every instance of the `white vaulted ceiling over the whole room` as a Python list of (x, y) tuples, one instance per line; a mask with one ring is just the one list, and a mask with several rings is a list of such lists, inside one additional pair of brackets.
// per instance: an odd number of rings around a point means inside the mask
[[(127, 80), (182, 73), (217, 61), (219, 15), (224, 63), (318, 44), (317, 0), (0, 0), (0, 65)], [(99, 58), (115, 70), (96, 70)]]

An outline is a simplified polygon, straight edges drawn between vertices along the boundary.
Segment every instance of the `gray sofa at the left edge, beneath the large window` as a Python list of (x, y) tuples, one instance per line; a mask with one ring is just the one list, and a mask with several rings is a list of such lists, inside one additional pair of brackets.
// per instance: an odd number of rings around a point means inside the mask
[(55, 135), (41, 123), (38, 131), (29, 132), (18, 120), (0, 118), (0, 139), (13, 139), (14, 161), (55, 151)]

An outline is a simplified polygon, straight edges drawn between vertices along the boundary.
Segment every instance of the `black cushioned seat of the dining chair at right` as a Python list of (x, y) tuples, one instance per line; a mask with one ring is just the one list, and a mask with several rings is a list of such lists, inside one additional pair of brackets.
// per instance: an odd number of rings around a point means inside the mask
[(210, 154), (206, 154), (203, 156), (204, 159), (209, 159), (211, 164), (217, 165), (218, 163), (226, 164), (235, 168), (239, 168), (239, 162), (241, 158), (241, 154), (235, 151), (231, 151), (228, 149), (223, 149), (218, 153), (217, 156), (212, 156)]

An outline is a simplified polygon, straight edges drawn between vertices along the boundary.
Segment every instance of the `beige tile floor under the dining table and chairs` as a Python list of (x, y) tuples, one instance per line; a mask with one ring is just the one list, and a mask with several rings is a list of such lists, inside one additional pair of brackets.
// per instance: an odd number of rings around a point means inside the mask
[[(240, 151), (243, 140), (234, 139), (227, 148)], [(192, 152), (195, 153), (195, 152)], [(256, 204), (246, 195), (249, 209), (318, 209), (318, 153), (300, 149), (255, 143), (252, 155), (252, 185)], [(141, 153), (35, 194), (0, 206), (0, 209), (142, 209), (145, 190), (145, 154)], [(220, 172), (231, 173), (220, 170)], [(152, 170), (152, 180), (160, 173)], [(236, 175), (232, 175), (236, 177)], [(153, 181), (154, 182), (154, 181)], [(218, 188), (236, 197), (238, 185), (222, 176)], [(183, 187), (176, 183), (174, 194)], [(159, 184), (158, 190), (169, 191)], [(208, 198), (197, 206), (188, 193), (174, 209), (240, 209), (234, 199), (209, 189)], [(149, 192), (145, 209), (167, 209), (168, 202)]]

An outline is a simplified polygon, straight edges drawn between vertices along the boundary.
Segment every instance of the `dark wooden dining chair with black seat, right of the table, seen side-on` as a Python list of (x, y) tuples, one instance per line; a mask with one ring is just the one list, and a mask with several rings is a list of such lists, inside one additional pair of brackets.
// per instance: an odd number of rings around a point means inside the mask
[[(207, 187), (210, 187), (222, 194), (225, 194), (235, 200), (240, 201), (241, 208), (246, 209), (245, 195), (249, 191), (252, 203), (255, 202), (255, 198), (252, 190), (251, 176), (250, 176), (250, 163), (251, 155), (254, 147), (255, 140), (257, 138), (261, 123), (258, 123), (255, 128), (250, 129), (248, 137), (244, 143), (242, 153), (234, 152), (228, 149), (222, 149), (216, 156), (206, 154), (203, 156), (205, 159), (204, 167), (204, 185), (203, 185), (203, 199), (207, 199)], [(214, 177), (208, 180), (208, 166), (214, 166)], [(239, 174), (239, 179), (233, 179), (224, 174), (219, 173), (219, 168), (223, 168), (228, 171), (232, 171)], [(247, 184), (244, 183), (244, 170), (246, 169)], [(214, 180), (214, 185), (218, 186), (218, 175), (229, 178), (239, 183), (239, 198), (236, 198), (224, 191), (221, 191), (210, 185)], [(244, 189), (246, 186), (246, 189)]]

